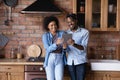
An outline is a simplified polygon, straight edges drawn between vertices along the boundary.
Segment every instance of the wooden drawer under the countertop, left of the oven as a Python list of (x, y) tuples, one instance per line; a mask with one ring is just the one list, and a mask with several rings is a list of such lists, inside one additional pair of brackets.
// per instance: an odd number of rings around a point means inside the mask
[(0, 72), (24, 72), (24, 66), (0, 66)]

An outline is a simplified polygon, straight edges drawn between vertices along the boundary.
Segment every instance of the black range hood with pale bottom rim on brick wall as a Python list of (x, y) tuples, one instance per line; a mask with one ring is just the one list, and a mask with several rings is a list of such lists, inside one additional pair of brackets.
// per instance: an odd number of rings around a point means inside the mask
[(60, 14), (63, 11), (51, 0), (36, 0), (21, 11), (21, 13)]

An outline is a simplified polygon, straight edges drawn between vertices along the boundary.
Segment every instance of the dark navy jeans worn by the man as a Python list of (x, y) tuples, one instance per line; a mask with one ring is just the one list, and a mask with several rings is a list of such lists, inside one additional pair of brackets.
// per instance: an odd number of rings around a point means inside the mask
[(68, 65), (71, 80), (85, 80), (86, 63), (79, 65)]

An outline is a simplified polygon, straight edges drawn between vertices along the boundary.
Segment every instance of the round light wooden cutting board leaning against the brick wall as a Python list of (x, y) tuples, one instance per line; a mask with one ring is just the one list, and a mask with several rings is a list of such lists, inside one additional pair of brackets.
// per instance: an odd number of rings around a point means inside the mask
[(32, 44), (27, 49), (27, 54), (29, 57), (39, 57), (41, 55), (41, 48), (36, 44)]

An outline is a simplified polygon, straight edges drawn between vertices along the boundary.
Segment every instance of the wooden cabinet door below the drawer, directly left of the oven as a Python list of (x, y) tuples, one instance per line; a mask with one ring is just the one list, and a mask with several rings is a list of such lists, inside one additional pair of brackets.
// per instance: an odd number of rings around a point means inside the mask
[(24, 73), (10, 73), (8, 76), (10, 76), (10, 80), (24, 80)]

